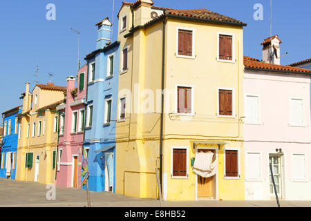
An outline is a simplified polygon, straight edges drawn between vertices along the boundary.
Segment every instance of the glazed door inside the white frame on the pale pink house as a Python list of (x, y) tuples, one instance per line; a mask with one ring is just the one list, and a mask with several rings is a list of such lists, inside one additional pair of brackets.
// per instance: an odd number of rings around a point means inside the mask
[(274, 182), (276, 186), (276, 192), (278, 197), (282, 198), (282, 164), (280, 155), (269, 155), (269, 178), (270, 178), (270, 197), (275, 198), (274, 186), (272, 183), (272, 175), (270, 170), (270, 164), (272, 164), (272, 171), (274, 176)]

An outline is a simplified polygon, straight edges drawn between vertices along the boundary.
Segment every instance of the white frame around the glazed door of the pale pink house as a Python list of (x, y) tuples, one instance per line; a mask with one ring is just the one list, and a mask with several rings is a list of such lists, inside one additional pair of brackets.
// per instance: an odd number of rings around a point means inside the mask
[(284, 153), (275, 153), (275, 152), (268, 152), (267, 153), (267, 168), (268, 168), (267, 180), (268, 180), (268, 193), (269, 193), (268, 197), (270, 199), (275, 198), (275, 193), (274, 193), (274, 196), (272, 196), (271, 193), (270, 193), (270, 163), (269, 163), (270, 156), (278, 156), (278, 157), (280, 157), (280, 167), (281, 167), (281, 169), (280, 169), (280, 171), (281, 171), (281, 179), (280, 179), (280, 181), (281, 181), (281, 189), (280, 189), (280, 191), (281, 191), (281, 197), (279, 195), (278, 195), (278, 197), (281, 200), (285, 200), (285, 173), (284, 173), (284, 167), (285, 167), (285, 165), (284, 165), (284, 157), (285, 157), (285, 154)]

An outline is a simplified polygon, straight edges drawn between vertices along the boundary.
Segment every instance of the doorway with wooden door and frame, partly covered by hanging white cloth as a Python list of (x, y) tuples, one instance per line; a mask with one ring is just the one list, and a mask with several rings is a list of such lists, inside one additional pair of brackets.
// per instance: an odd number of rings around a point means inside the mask
[[(216, 149), (210, 148), (197, 148), (197, 153), (214, 153), (211, 162), (217, 160)], [(217, 165), (217, 164), (216, 164)], [(217, 166), (216, 166), (217, 167)], [(218, 171), (218, 168), (216, 168)], [(200, 175), (196, 175), (196, 193), (198, 200), (216, 200), (217, 198), (217, 173), (211, 177), (201, 177)]]

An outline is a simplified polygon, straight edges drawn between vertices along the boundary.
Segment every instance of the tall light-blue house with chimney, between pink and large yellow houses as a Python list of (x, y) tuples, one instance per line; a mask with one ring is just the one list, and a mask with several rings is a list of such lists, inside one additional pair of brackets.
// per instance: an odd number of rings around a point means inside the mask
[[(108, 18), (96, 26), (96, 50), (85, 58), (88, 63), (88, 87), (84, 150), (88, 159), (88, 189), (115, 193), (120, 42), (111, 44), (111, 22)], [(82, 188), (85, 189), (86, 185)]]

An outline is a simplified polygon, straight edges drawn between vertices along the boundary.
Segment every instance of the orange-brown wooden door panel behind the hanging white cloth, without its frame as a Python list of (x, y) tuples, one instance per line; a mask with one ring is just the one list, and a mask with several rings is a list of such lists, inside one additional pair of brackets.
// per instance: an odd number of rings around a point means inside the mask
[[(198, 152), (207, 153), (211, 150), (198, 150)], [(215, 160), (215, 155), (213, 161)], [(199, 198), (214, 198), (216, 197), (216, 175), (212, 177), (201, 177), (198, 175), (198, 197)]]

